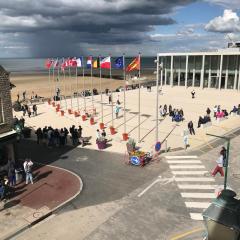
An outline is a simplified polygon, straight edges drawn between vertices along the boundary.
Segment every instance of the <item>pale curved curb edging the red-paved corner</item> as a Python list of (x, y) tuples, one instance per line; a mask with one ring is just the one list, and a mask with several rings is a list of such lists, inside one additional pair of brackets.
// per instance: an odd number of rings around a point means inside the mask
[(74, 172), (71, 172), (67, 169), (64, 169), (64, 168), (61, 168), (61, 167), (57, 167), (57, 166), (53, 166), (53, 165), (50, 165), (50, 164), (42, 164), (42, 163), (39, 163), (39, 162), (35, 162), (39, 165), (42, 165), (42, 166), (48, 166), (48, 167), (52, 167), (52, 168), (56, 168), (56, 169), (60, 169), (60, 170), (63, 170), (65, 172), (68, 172), (72, 175), (74, 175), (75, 177), (78, 178), (79, 180), (79, 183), (80, 183), (80, 189), (79, 191), (74, 194), (71, 198), (69, 198), (68, 200), (66, 200), (65, 202), (61, 203), (60, 205), (58, 205), (57, 207), (53, 208), (51, 211), (49, 211), (47, 214), (41, 216), (40, 218), (36, 219), (35, 221), (33, 221), (32, 223), (30, 224), (27, 224), (25, 226), (23, 226), (22, 228), (18, 229), (16, 232), (14, 233), (10, 233), (8, 236), (5, 236), (4, 237), (4, 240), (11, 240), (13, 239), (14, 237), (16, 237), (17, 235), (19, 235), (20, 233), (26, 231), (27, 229), (30, 229), (32, 226), (38, 224), (39, 222), (43, 221), (44, 219), (48, 218), (49, 216), (51, 216), (52, 214), (54, 214), (55, 212), (61, 210), (66, 204), (68, 204), (69, 202), (71, 202), (73, 199), (75, 199), (81, 192), (82, 192), (82, 189), (83, 189), (83, 181), (82, 179)]

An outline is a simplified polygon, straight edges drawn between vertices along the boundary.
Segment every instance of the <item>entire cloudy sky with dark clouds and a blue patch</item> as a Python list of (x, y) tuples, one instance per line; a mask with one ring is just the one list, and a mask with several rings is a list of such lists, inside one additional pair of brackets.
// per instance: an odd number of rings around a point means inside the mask
[(240, 40), (240, 0), (0, 0), (0, 58), (155, 56)]

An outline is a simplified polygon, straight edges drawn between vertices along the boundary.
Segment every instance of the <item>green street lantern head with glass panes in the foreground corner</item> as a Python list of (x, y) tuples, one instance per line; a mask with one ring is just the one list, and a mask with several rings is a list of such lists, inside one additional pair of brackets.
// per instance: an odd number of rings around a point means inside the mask
[(240, 239), (240, 200), (232, 190), (223, 190), (203, 212), (207, 240)]

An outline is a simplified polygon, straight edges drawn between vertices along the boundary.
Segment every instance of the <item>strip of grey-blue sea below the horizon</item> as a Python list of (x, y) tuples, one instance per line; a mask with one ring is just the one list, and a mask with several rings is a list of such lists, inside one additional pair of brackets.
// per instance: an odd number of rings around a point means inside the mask
[[(112, 70), (114, 72), (115, 57), (112, 57)], [(134, 59), (134, 57), (126, 57), (126, 66)], [(154, 60), (156, 57), (141, 57), (141, 72), (154, 72), (156, 64)], [(27, 73), (47, 73), (45, 69), (44, 58), (0, 58), (0, 65), (3, 66), (8, 72), (13, 74), (27, 74)], [(86, 63), (86, 58), (84, 58)]]

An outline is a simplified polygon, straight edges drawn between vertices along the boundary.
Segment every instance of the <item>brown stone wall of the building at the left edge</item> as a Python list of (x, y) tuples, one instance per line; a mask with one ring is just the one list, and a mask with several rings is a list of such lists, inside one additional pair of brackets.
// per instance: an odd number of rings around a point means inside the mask
[(3, 102), (4, 123), (0, 123), (0, 134), (12, 129), (13, 114), (9, 73), (0, 66), (0, 97)]

